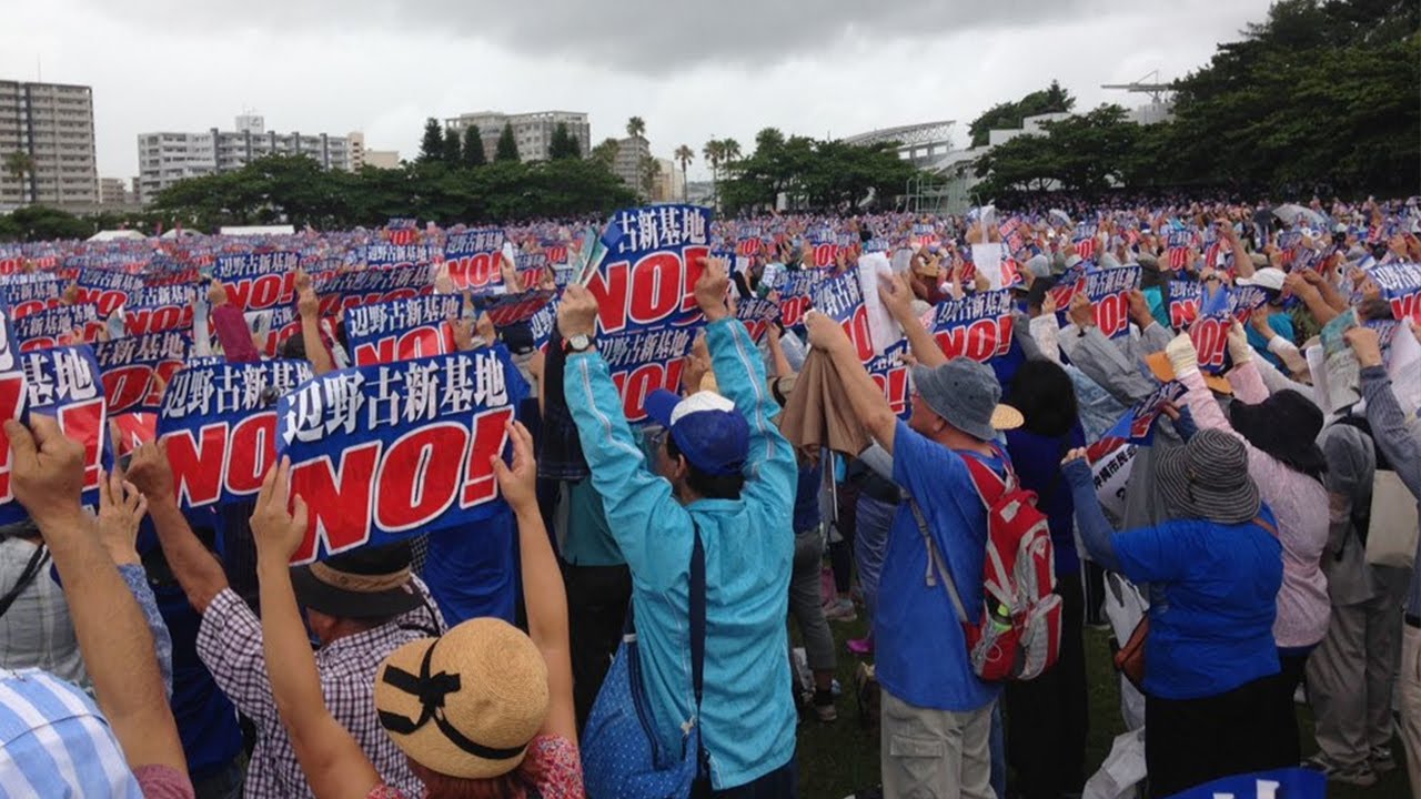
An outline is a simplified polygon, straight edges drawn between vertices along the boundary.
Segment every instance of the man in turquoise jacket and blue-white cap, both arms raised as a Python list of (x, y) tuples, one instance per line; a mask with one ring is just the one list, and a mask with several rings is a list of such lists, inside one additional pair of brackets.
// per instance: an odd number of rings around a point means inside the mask
[[(772, 419), (779, 405), (745, 326), (725, 306), (719, 262), (695, 286), (723, 397), (647, 398), (668, 429), (647, 463), (607, 363), (597, 353), (597, 300), (568, 286), (558, 307), (567, 340), (567, 407), (593, 488), (632, 577), (642, 681), (661, 745), (679, 752), (699, 721), (709, 775), (692, 796), (796, 795), (789, 637), (794, 451)], [(699, 530), (706, 567), (705, 692), (691, 678), (691, 550)]]

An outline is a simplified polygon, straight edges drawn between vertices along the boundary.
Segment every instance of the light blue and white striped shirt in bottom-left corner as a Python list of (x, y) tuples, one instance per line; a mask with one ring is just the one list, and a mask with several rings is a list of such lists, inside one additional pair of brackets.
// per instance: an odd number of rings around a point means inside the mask
[(124, 752), (94, 702), (27, 668), (0, 671), (0, 799), (142, 799)]

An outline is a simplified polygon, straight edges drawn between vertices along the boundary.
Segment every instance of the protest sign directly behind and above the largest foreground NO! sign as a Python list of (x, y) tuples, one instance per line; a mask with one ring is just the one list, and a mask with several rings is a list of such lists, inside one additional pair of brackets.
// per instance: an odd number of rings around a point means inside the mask
[(450, 318), (463, 301), (429, 294), (345, 309), (345, 336), (357, 367), (443, 355), (455, 350)]

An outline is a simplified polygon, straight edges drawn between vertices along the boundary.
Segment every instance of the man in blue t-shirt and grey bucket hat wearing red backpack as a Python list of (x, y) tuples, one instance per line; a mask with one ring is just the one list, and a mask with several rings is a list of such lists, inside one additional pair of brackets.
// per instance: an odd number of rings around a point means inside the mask
[(990, 442), (1022, 417), (998, 404), (1002, 387), (990, 367), (946, 360), (914, 317), (912, 293), (901, 279), (884, 281), (880, 297), (921, 364), (912, 370), (908, 422), (894, 415), (838, 323), (810, 313), (806, 324), (810, 344), (831, 358), (854, 414), (892, 455), (894, 482), (911, 498), (898, 505), (888, 530), (874, 613), (884, 795), (993, 799), (989, 735), (999, 687), (972, 671), (962, 626), (909, 502), (926, 520), (968, 613), (980, 608), (986, 509), (965, 458), (1003, 475), (1005, 454)]

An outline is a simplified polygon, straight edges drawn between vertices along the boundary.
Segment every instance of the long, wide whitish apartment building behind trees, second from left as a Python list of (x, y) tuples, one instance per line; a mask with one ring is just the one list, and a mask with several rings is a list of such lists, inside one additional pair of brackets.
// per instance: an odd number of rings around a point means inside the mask
[(186, 178), (232, 172), (266, 155), (304, 155), (327, 169), (352, 169), (348, 136), (279, 134), (261, 117), (243, 114), (236, 131), (138, 135), (138, 183), (145, 202)]

